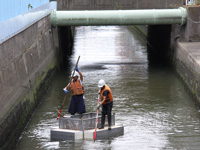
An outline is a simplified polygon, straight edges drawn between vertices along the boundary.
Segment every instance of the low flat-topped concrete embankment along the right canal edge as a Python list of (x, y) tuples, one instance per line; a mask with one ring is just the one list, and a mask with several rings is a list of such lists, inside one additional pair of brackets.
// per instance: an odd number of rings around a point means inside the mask
[(178, 42), (174, 50), (174, 68), (196, 104), (200, 106), (200, 42)]

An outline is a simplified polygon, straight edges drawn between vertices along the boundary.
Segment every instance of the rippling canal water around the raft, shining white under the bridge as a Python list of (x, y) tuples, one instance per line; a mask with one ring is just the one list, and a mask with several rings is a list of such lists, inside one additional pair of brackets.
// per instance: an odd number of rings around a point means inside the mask
[[(78, 56), (84, 76), (86, 111), (95, 111), (97, 83), (104, 79), (114, 95), (116, 122), (124, 135), (93, 141), (51, 141), (62, 88)], [(126, 27), (77, 27), (69, 68), (60, 72), (24, 131), (17, 147), (25, 149), (198, 149), (200, 115), (180, 81), (167, 66), (148, 66), (146, 44)], [(63, 113), (67, 113), (70, 94)]]

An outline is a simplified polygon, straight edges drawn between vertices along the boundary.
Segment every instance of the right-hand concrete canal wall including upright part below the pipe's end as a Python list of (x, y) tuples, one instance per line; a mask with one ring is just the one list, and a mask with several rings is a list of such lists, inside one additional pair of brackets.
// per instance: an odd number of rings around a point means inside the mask
[(187, 7), (185, 26), (173, 25), (171, 58), (174, 69), (200, 106), (200, 6)]

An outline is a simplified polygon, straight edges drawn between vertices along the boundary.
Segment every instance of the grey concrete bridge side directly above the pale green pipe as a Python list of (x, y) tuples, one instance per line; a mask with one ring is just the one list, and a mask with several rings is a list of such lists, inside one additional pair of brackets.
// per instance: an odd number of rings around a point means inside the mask
[(185, 0), (58, 0), (58, 10), (178, 8)]

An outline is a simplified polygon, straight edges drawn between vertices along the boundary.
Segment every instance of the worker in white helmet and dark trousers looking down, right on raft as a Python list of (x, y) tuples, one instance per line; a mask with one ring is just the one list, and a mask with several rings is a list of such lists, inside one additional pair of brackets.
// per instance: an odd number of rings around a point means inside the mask
[(98, 83), (99, 87), (99, 94), (101, 98), (100, 104), (97, 105), (97, 109), (102, 106), (102, 118), (101, 118), (101, 126), (99, 129), (104, 128), (105, 124), (105, 116), (107, 115), (108, 118), (108, 130), (111, 130), (111, 111), (113, 107), (113, 96), (110, 87), (105, 84), (104, 80), (99, 80)]

